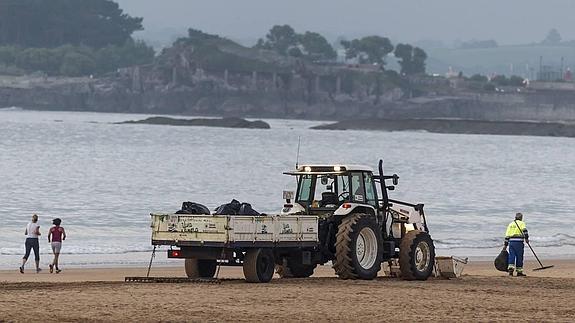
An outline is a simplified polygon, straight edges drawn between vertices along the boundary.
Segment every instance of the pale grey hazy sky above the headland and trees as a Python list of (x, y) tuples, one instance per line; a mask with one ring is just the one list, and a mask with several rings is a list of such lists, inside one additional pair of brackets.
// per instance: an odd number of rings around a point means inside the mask
[(499, 44), (542, 40), (557, 28), (575, 39), (574, 0), (116, 0), (144, 18), (147, 35), (185, 33), (192, 27), (243, 43), (271, 26), (329, 39), (377, 34), (416, 42), (495, 39)]

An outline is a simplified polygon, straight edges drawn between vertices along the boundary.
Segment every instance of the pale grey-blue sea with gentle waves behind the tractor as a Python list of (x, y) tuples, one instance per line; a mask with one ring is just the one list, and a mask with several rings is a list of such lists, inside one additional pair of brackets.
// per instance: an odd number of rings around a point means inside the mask
[[(391, 197), (425, 204), (438, 255), (493, 259), (522, 212), (540, 258), (575, 257), (573, 138), (312, 130), (326, 122), (279, 119), (265, 120), (271, 129), (116, 124), (147, 117), (0, 109), (0, 269), (20, 265), (34, 213), (44, 267), (54, 218), (68, 234), (63, 268), (148, 265), (150, 213), (232, 199), (279, 212), (282, 191), (295, 189), (282, 172), (297, 160), (375, 169), (384, 159), (399, 175)], [(155, 266), (183, 265), (166, 250)]]

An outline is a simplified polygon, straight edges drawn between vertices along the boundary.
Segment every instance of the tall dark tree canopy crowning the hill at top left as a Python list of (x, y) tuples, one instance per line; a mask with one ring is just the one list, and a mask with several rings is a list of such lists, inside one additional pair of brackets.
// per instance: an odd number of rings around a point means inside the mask
[(0, 0), (0, 46), (122, 46), (142, 20), (111, 0)]

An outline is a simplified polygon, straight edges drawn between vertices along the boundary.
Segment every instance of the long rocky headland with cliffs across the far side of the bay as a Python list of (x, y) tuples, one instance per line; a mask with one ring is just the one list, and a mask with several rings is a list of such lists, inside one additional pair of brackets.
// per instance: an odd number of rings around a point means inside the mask
[(575, 122), (575, 83), (486, 90), (461, 78), (318, 64), (200, 38), (177, 41), (153, 64), (98, 77), (0, 76), (0, 108), (368, 120), (360, 123), (458, 133), (474, 121), (474, 133), (535, 135), (568, 134), (562, 123)]

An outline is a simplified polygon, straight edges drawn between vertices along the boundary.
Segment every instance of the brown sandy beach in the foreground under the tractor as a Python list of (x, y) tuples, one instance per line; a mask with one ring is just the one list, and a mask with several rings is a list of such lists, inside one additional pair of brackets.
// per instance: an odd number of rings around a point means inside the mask
[[(145, 268), (0, 272), (0, 321), (575, 321), (575, 260), (508, 277), (470, 262), (459, 279), (409, 282), (336, 278), (329, 266), (307, 279), (248, 284), (222, 267), (221, 284), (125, 283)], [(183, 264), (182, 264), (183, 267)], [(535, 268), (528, 263), (527, 268)], [(383, 274), (383, 272), (382, 272)], [(183, 276), (156, 267), (152, 276)]]

